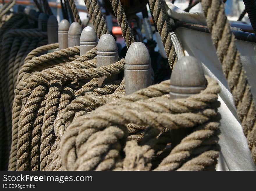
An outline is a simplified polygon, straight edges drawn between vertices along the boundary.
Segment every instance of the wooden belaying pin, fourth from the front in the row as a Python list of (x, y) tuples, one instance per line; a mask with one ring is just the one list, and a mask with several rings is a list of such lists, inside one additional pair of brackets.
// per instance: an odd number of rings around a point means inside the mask
[(90, 26), (86, 26), (80, 37), (80, 56), (96, 47), (97, 40), (98, 38), (95, 30)]

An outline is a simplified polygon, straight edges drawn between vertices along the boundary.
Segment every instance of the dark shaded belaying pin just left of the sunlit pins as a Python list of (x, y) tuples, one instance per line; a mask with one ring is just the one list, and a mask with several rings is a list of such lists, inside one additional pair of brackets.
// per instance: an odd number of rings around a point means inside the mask
[(47, 22), (48, 44), (58, 42), (58, 21), (54, 15), (51, 15)]

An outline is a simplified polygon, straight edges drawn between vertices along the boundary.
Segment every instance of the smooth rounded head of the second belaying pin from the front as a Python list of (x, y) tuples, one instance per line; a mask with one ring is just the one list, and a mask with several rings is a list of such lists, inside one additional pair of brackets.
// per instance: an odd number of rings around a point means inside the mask
[(151, 58), (145, 44), (142, 42), (132, 43), (126, 53), (125, 63), (132, 65), (150, 65)]

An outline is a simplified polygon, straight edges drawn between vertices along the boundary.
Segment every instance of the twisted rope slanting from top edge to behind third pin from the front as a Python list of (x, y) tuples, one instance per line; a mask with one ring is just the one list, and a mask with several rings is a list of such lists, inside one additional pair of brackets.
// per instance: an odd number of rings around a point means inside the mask
[(97, 37), (100, 38), (101, 35), (109, 33), (109, 30), (106, 25), (106, 21), (102, 15), (98, 1), (84, 0), (84, 3), (88, 10), (88, 14), (90, 18), (92, 19), (94, 29), (97, 33)]

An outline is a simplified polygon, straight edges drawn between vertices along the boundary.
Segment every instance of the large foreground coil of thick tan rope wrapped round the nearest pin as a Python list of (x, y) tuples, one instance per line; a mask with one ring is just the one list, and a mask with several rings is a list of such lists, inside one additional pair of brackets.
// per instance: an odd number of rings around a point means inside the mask
[[(180, 61), (182, 62), (182, 59)], [(184, 63), (186, 64), (186, 62)], [(202, 68), (199, 73), (203, 74)], [(192, 72), (192, 74), (198, 74), (198, 72)], [(203, 87), (206, 81), (198, 80), (195, 81), (194, 85), (197, 85), (196, 82), (203, 82), (204, 84), (200, 84)], [(144, 91), (150, 90), (150, 88), (145, 88)], [(124, 156), (122, 156), (120, 150), (123, 149), (124, 142), (129, 134), (126, 124), (132, 123), (148, 126), (143, 137), (145, 141), (142, 139), (143, 144), (138, 145), (143, 148), (137, 149), (138, 151), (145, 151), (145, 155), (143, 153), (139, 154), (139, 156), (144, 158), (143, 161), (146, 161), (143, 164), (145, 168), (138, 167), (134, 169), (150, 169), (151, 167), (149, 161), (151, 161), (154, 151), (150, 151), (150, 148), (154, 146), (154, 141), (151, 141), (150, 133), (152, 131), (149, 130), (150, 128), (156, 129), (158, 133), (164, 127), (168, 129), (189, 128), (193, 131), (172, 150), (173, 153), (179, 154), (179, 152), (183, 151), (186, 153), (180, 160), (174, 160), (177, 164), (172, 169), (177, 169), (189, 160), (190, 157), (198, 156), (209, 149), (215, 149), (217, 142), (217, 133), (215, 131), (218, 129), (218, 122), (214, 123), (212, 121), (214, 121), (218, 114), (216, 111), (218, 107), (216, 101), (219, 91), (220, 88), (216, 81), (207, 77), (206, 89), (202, 90), (199, 94), (194, 94), (195, 92), (192, 91), (190, 92), (191, 96), (188, 98), (170, 101), (169, 95), (162, 95), (150, 99), (138, 99), (135, 102), (128, 101), (123, 104), (120, 102), (120, 104), (111, 104), (109, 102), (95, 111), (77, 118), (67, 127), (61, 138), (60, 145), (63, 168), (67, 170), (111, 170), (122, 168), (121, 164)], [(136, 94), (135, 92), (121, 99), (134, 97)], [(195, 143), (189, 146), (187, 141)], [(126, 164), (124, 169), (130, 168), (130, 165), (127, 165), (129, 163), (127, 163), (126, 157), (131, 157), (128, 155), (128, 153), (132, 153), (128, 148), (131, 147), (131, 144), (134, 144), (134, 141), (127, 143), (125, 149), (127, 156), (125, 156), (123, 161)], [(143, 145), (147, 145), (147, 147)], [(134, 148), (138, 146), (135, 145)], [(170, 154), (173, 154), (172, 152)], [(212, 157), (209, 159), (210, 162), (203, 165), (203, 169), (216, 164), (218, 154), (207, 155), (206, 153), (203, 156)], [(138, 161), (138, 163), (141, 162), (141, 160)], [(167, 158), (163, 161), (169, 160)], [(195, 161), (194, 163), (191, 162), (191, 164), (195, 164)], [(166, 165), (166, 163), (163, 162), (161, 166), (163, 165)], [(170, 165), (173, 166), (173, 164)], [(169, 169), (171, 168), (166, 168), (166, 170)]]

